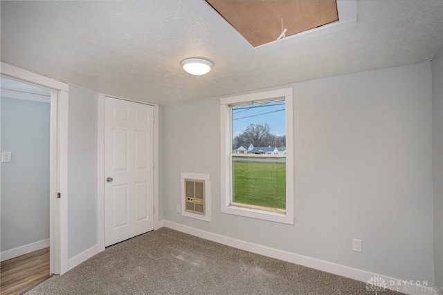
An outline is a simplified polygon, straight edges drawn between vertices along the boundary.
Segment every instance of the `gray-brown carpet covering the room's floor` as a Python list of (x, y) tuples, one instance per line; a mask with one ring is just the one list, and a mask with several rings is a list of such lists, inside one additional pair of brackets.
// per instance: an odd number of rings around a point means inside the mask
[(350, 278), (162, 228), (111, 246), (26, 295), (375, 294), (365, 287)]

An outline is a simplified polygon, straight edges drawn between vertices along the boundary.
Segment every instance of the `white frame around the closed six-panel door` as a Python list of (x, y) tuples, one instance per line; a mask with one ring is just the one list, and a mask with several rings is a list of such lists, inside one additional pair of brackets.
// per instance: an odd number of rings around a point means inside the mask
[(159, 220), (159, 105), (132, 99), (98, 94), (97, 120), (97, 244), (105, 251), (105, 100), (106, 97), (154, 106), (154, 230), (163, 227)]

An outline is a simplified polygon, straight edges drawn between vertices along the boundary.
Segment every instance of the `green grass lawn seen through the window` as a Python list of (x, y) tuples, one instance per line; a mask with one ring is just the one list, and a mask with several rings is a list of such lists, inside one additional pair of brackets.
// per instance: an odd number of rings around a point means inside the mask
[(286, 208), (286, 164), (233, 162), (233, 201)]

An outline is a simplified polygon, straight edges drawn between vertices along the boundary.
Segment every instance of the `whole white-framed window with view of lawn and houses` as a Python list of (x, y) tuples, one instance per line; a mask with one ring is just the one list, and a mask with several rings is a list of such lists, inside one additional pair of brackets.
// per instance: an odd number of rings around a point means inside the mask
[(220, 99), (221, 212), (293, 224), (292, 88)]

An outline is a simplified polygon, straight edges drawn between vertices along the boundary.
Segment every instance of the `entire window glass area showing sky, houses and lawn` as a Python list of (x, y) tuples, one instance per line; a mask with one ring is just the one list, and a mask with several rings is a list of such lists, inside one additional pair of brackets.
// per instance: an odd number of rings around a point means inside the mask
[[(286, 208), (284, 101), (233, 106), (233, 202)], [(247, 154), (248, 157), (235, 156)], [(263, 158), (257, 155), (282, 155)]]

